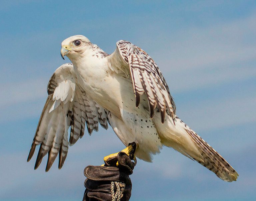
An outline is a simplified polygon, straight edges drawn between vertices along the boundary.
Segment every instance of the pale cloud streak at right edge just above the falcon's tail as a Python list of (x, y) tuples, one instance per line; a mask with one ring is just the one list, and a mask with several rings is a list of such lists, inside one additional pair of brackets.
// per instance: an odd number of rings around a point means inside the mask
[(256, 122), (256, 96), (247, 96), (207, 101), (188, 105), (179, 110), (180, 117), (190, 122), (199, 131)]

